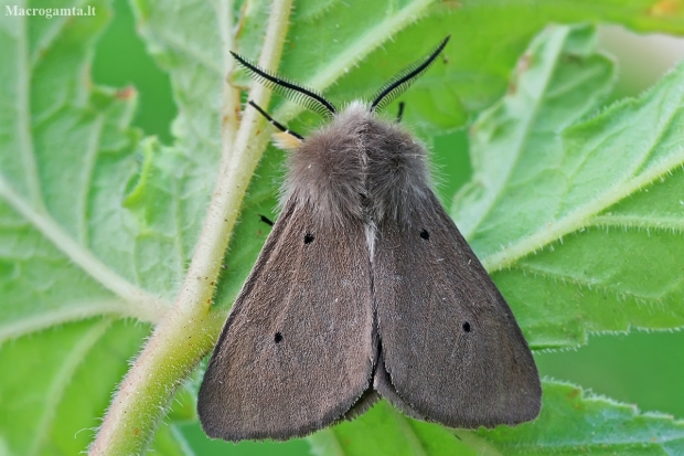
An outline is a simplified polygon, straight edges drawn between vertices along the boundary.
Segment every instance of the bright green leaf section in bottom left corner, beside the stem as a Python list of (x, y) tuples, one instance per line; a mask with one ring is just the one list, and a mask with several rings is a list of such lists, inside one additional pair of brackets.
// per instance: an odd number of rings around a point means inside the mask
[(113, 385), (148, 330), (147, 325), (97, 318), (6, 343), (0, 350), (0, 439), (9, 452), (77, 455), (87, 448)]

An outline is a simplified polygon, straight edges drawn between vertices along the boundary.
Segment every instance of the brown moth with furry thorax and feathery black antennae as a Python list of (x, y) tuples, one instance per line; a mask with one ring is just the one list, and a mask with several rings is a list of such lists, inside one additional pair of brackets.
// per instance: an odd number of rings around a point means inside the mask
[(376, 115), (447, 44), (371, 104), (320, 94), (235, 57), (331, 121), (290, 152), (281, 213), (243, 286), (200, 389), (211, 437), (287, 439), (378, 396), (451, 427), (533, 420), (542, 389), (505, 300), (430, 189), (426, 148)]

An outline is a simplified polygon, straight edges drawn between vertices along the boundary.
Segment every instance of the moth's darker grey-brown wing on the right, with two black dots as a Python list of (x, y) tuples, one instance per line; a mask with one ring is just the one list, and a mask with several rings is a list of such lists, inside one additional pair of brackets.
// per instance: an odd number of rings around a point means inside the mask
[(378, 226), (373, 286), (381, 395), (451, 427), (537, 416), (542, 388), (527, 342), (434, 194), (416, 208), (413, 225)]

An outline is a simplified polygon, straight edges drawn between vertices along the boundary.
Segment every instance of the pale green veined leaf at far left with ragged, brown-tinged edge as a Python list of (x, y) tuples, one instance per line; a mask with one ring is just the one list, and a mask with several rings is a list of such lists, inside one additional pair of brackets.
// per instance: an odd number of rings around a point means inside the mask
[[(31, 42), (25, 21), (6, 17), (1, 35), (2, 47), (14, 52), (3, 52), (0, 65), (0, 286), (6, 301), (21, 303), (0, 306), (2, 340), (75, 318), (125, 314), (116, 296), (139, 295), (128, 282), (135, 233), (119, 215), (116, 193), (136, 167), (137, 136), (121, 128), (135, 97), (84, 91), (84, 63), (71, 63), (85, 56), (101, 19), (56, 20), (62, 34), (44, 30)], [(44, 49), (31, 53), (36, 42)], [(63, 88), (55, 94), (52, 85)], [(114, 251), (116, 243), (127, 247)], [(111, 267), (100, 259), (107, 256)]]

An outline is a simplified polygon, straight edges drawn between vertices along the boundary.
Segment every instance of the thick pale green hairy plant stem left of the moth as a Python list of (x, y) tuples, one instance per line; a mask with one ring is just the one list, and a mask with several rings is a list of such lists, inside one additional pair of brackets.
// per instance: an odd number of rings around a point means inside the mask
[[(259, 57), (261, 67), (278, 67), (291, 3), (272, 3)], [(225, 0), (217, 13), (225, 29), (223, 45), (231, 49), (231, 0)], [(224, 59), (228, 55), (224, 52)], [(232, 70), (232, 63), (224, 62), (224, 68)], [(258, 84), (250, 93), (250, 98), (261, 106), (268, 104), (269, 96)], [(224, 85), (223, 102), (221, 167), (192, 263), (173, 308), (154, 328), (111, 401), (90, 455), (146, 454), (177, 389), (211, 350), (223, 325), (224, 315), (211, 311), (214, 284), (247, 185), (268, 140), (263, 131), (257, 132), (257, 121), (263, 119), (254, 109), (244, 113), (237, 128), (239, 96), (228, 84)]]

